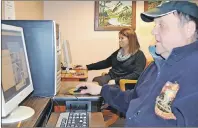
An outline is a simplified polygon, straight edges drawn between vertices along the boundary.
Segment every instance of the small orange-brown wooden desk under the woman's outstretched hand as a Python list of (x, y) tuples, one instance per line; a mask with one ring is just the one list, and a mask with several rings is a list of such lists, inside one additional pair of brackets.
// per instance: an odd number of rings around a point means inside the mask
[(88, 70), (76, 69), (76, 73), (83, 73), (83, 75), (73, 75), (71, 73), (61, 72), (61, 81), (86, 81), (88, 78)]

